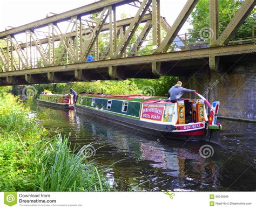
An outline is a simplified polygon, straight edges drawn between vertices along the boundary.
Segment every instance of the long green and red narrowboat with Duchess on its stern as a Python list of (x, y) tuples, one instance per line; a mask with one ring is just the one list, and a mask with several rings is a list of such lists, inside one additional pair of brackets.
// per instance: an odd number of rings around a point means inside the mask
[[(219, 102), (212, 105), (200, 99), (184, 99), (172, 103), (166, 97), (142, 94), (79, 94), (76, 112), (89, 114), (122, 126), (153, 135), (181, 140), (205, 140), (218, 143), (221, 125), (217, 122)], [(210, 107), (210, 116), (205, 105)]]

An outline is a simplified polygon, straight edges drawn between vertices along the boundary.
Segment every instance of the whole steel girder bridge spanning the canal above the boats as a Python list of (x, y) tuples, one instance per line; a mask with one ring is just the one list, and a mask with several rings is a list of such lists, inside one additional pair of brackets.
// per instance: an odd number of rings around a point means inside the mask
[[(107, 0), (6, 28), (0, 32), (0, 85), (187, 75), (202, 67), (217, 71), (241, 55), (255, 58), (254, 23), (250, 36), (232, 38), (255, 0), (245, 0), (221, 34), (218, 0), (209, 0), (210, 28), (192, 40), (178, 32), (197, 3), (187, 0), (172, 26), (160, 15), (160, 0)], [(116, 10), (127, 4), (136, 15), (117, 20)], [(86, 62), (89, 54), (94, 61)]]

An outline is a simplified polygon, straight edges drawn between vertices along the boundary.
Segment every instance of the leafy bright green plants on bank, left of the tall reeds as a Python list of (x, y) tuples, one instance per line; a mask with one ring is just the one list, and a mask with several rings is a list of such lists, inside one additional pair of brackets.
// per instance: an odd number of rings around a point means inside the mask
[(33, 146), (42, 129), (27, 111), (13, 96), (0, 97), (0, 191), (36, 190)]

